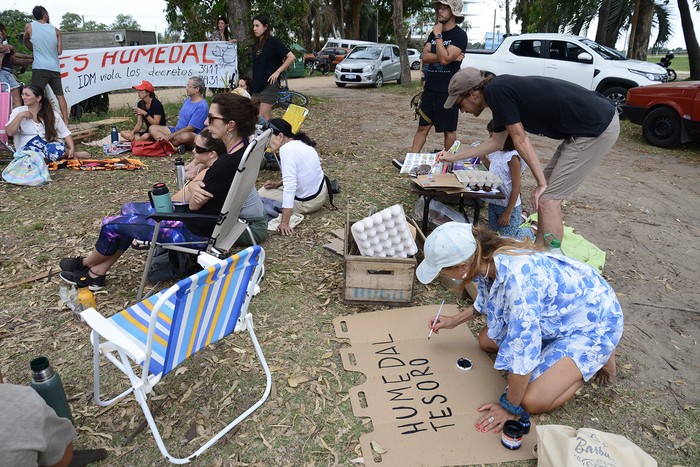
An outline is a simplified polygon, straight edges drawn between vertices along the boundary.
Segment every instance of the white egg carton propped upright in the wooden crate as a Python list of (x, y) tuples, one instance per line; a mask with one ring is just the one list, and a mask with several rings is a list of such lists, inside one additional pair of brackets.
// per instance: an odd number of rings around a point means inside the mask
[(363, 256), (408, 258), (418, 252), (399, 204), (355, 222), (350, 231)]

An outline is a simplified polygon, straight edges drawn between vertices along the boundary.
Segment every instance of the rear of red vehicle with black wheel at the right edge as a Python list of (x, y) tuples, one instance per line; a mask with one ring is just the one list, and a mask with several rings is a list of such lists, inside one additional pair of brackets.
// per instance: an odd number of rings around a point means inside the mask
[(630, 89), (624, 113), (642, 125), (647, 142), (660, 148), (700, 141), (700, 81), (681, 81)]

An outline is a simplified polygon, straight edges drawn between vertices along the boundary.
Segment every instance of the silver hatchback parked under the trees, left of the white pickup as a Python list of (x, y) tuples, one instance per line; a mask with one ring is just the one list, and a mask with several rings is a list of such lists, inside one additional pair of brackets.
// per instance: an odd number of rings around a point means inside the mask
[(358, 45), (335, 67), (335, 84), (372, 85), (401, 79), (399, 46), (392, 44)]

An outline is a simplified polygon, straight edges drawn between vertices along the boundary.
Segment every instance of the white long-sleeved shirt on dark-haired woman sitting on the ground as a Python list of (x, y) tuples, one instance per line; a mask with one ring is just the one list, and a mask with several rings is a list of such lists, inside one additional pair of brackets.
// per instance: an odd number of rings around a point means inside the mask
[(318, 193), (323, 181), (321, 159), (314, 148), (301, 141), (290, 141), (280, 148), (282, 208), (292, 209), (294, 197), (308, 198)]

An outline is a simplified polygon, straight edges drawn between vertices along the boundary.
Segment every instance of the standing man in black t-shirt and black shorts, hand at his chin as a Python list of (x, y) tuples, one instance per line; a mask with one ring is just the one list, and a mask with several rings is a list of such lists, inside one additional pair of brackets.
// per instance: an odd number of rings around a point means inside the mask
[(461, 0), (438, 0), (433, 3), (437, 21), (423, 47), (421, 59), (428, 64), (425, 86), (418, 113), (418, 131), (413, 137), (411, 152), (421, 152), (430, 133), (444, 133), (444, 147), (449, 149), (457, 139), (457, 109), (445, 109), (447, 86), (459, 71), (467, 48), (467, 33), (458, 26), (464, 21)]

